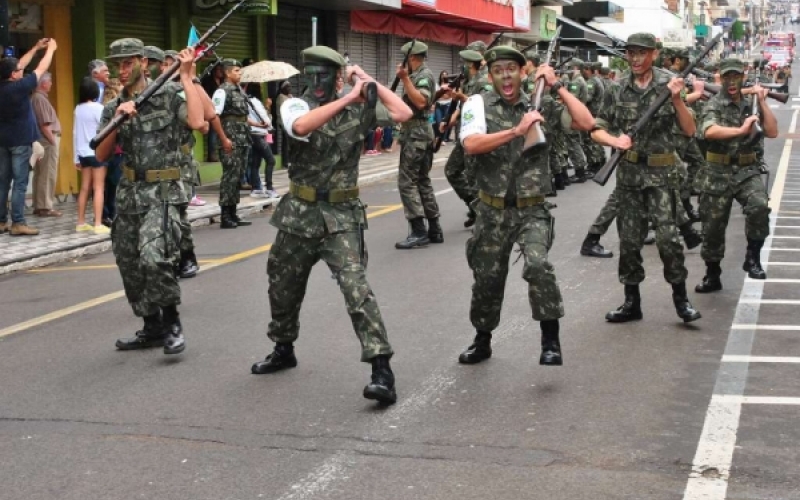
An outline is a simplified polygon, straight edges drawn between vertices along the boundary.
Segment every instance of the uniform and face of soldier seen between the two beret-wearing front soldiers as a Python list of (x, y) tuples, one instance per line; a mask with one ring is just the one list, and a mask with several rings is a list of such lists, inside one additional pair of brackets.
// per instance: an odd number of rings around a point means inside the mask
[(403, 124), (400, 134), (400, 175), (397, 185), (406, 219), (439, 218), (439, 205), (433, 194), (430, 171), (433, 167), (433, 129), (428, 122), (433, 104), (433, 73), (424, 63), (409, 75), (414, 87), (425, 96), (425, 106), (417, 109), (408, 94), (403, 101), (414, 111), (411, 120)]

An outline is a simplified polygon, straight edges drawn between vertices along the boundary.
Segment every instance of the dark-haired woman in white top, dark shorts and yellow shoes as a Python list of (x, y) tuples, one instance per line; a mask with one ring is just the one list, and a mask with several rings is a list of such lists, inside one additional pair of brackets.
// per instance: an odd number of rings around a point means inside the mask
[[(106, 186), (108, 164), (97, 161), (89, 142), (97, 133), (103, 105), (97, 102), (100, 87), (92, 78), (81, 81), (78, 91), (79, 102), (75, 107), (75, 119), (72, 128), (73, 150), (75, 151), (75, 168), (81, 171), (81, 192), (78, 195), (78, 232), (92, 231), (95, 234), (108, 234), (110, 230), (103, 225), (103, 194)], [(86, 223), (86, 204), (92, 191), (94, 208), (94, 226)]]

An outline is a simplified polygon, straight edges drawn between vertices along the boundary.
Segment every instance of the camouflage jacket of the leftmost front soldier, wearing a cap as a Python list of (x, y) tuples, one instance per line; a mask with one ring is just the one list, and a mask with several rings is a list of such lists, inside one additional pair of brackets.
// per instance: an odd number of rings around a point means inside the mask
[[(98, 131), (114, 118), (117, 107), (136, 96), (113, 99), (103, 109)], [(179, 167), (182, 159), (181, 141), (188, 126), (185, 97), (172, 85), (165, 85), (138, 108), (138, 113), (120, 126), (117, 145), (122, 148), (123, 167), (137, 172)], [(117, 188), (117, 212), (141, 214), (160, 206), (187, 203), (183, 182), (167, 182), (167, 200), (162, 200), (161, 183), (129, 181), (122, 177)]]

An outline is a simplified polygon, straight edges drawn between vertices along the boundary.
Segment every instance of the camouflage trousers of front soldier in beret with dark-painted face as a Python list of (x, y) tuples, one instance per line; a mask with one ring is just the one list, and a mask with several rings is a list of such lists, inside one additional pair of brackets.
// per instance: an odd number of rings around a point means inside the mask
[[(363, 258), (362, 258), (363, 253)], [(359, 231), (322, 238), (302, 238), (278, 231), (267, 259), (272, 321), (267, 336), (274, 342), (294, 342), (300, 332), (300, 306), (311, 268), (328, 264), (339, 283), (347, 313), (361, 342), (361, 361), (393, 354), (375, 294), (367, 283), (366, 248)]]

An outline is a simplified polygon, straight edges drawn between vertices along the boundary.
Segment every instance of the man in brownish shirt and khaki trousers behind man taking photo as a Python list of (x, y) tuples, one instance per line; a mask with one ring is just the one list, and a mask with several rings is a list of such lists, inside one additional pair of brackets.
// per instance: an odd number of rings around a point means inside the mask
[(44, 146), (44, 158), (33, 170), (33, 215), (39, 217), (61, 217), (62, 213), (53, 209), (55, 200), (56, 176), (58, 175), (58, 150), (61, 147), (61, 122), (48, 94), (53, 88), (53, 76), (43, 73), (39, 85), (31, 97), (33, 114), (39, 126)]

